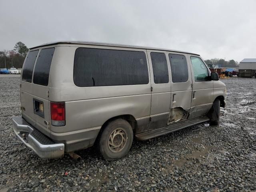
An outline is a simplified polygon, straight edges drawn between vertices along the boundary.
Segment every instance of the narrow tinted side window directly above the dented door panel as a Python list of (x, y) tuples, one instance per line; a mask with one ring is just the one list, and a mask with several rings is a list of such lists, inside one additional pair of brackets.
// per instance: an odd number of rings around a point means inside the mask
[(169, 54), (172, 82), (187, 82), (188, 81), (188, 64), (184, 55)]

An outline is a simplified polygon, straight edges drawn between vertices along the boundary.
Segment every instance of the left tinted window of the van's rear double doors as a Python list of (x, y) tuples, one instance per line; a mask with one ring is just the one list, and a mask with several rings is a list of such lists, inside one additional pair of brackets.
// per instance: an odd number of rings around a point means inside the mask
[(26, 82), (32, 82), (32, 74), (34, 69), (34, 64), (36, 61), (36, 56), (38, 54), (38, 50), (30, 51), (26, 58), (26, 62), (24, 63), (23, 72), (22, 72), (22, 80)]

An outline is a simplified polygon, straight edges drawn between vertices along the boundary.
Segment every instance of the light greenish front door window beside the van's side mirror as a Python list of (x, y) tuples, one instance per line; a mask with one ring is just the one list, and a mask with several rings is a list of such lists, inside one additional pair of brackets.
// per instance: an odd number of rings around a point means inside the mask
[(208, 80), (208, 69), (199, 57), (191, 56), (195, 81)]

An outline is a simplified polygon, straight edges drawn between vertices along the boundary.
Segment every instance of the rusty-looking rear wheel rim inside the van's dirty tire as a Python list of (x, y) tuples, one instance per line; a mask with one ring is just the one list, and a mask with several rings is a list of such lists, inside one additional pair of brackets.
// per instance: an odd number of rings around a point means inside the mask
[(108, 148), (113, 153), (118, 153), (124, 149), (128, 140), (126, 130), (116, 128), (108, 138)]

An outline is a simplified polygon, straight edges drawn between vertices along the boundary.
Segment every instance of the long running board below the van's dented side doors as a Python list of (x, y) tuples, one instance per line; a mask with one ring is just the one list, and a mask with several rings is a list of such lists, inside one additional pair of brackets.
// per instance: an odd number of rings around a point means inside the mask
[(177, 122), (175, 124), (170, 124), (168, 126), (164, 126), (162, 128), (152, 130), (150, 132), (137, 134), (136, 138), (138, 138), (139, 140), (148, 140), (148, 139), (155, 138), (160, 135), (165, 135), (170, 132), (174, 132), (198, 123), (206, 122), (208, 120), (210, 119), (207, 116), (201, 116), (199, 118), (193, 118), (190, 120), (186, 120), (184, 122)]

